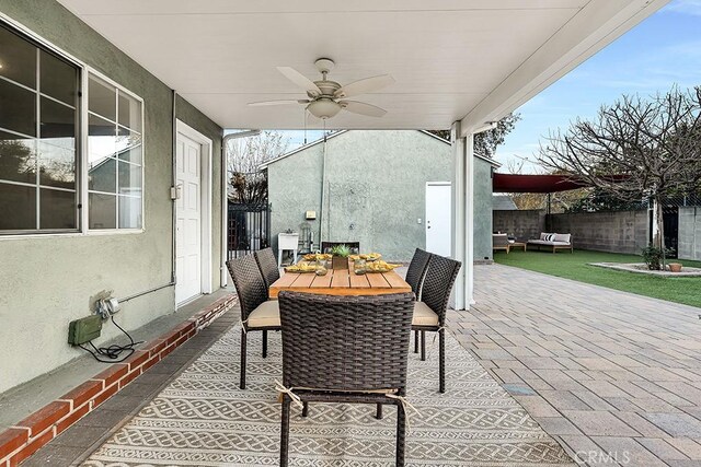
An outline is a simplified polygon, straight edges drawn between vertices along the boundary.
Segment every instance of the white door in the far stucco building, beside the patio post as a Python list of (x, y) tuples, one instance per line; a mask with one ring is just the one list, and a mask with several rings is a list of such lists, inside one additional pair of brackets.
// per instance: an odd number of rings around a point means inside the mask
[(426, 250), (450, 256), (450, 183), (426, 184)]

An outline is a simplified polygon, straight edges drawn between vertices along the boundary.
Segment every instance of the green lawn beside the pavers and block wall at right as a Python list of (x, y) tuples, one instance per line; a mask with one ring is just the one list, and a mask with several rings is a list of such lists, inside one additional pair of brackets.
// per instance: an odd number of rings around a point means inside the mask
[[(527, 253), (512, 250), (508, 255), (506, 252), (494, 252), (494, 261), (499, 265), (701, 307), (701, 277), (660, 278), (588, 265), (588, 262), (642, 262), (642, 258), (635, 255), (577, 249), (573, 254), (558, 252), (554, 255), (544, 250)], [(682, 259), (674, 259), (674, 261), (701, 268), (699, 261)]]

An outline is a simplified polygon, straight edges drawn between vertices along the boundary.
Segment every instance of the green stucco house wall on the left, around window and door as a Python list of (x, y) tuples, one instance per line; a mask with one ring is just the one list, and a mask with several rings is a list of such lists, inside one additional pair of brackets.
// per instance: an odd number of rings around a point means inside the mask
[[(96, 69), (145, 102), (145, 191), (140, 233), (0, 237), (0, 392), (84, 355), (66, 343), (69, 322), (90, 315), (94, 297), (123, 297), (171, 281), (171, 90), (53, 0), (0, 0), (0, 12)], [(222, 130), (183, 100), (177, 116), (214, 142), (212, 266), (219, 284)], [(85, 189), (81, 187), (81, 189)], [(123, 304), (127, 330), (174, 312), (172, 287)], [(119, 336), (108, 323), (97, 343)]]

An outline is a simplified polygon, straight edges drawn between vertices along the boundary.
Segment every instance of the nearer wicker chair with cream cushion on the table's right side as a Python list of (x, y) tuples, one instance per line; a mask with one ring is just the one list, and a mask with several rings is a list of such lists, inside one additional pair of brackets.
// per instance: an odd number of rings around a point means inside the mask
[(421, 331), (421, 359), (426, 360), (426, 331), (438, 332), (438, 390), (446, 392), (446, 310), (461, 262), (432, 255), (422, 288), (414, 304), (412, 329)]

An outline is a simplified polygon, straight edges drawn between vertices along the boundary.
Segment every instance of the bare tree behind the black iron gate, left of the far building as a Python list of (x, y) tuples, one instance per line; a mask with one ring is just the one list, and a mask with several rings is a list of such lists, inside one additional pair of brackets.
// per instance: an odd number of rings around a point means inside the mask
[(289, 141), (279, 131), (263, 131), (255, 137), (229, 140), (229, 199), (234, 202), (265, 202), (267, 174), (260, 166), (287, 152), (288, 145)]

